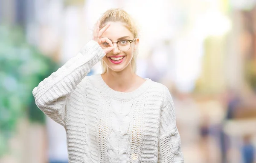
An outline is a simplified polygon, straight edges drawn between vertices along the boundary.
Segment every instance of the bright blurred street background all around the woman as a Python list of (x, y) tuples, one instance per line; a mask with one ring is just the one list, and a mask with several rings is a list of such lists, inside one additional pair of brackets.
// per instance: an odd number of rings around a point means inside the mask
[(169, 88), (185, 162), (256, 163), (256, 0), (0, 0), (0, 163), (68, 162), (32, 89), (110, 8), (138, 23), (137, 73)]

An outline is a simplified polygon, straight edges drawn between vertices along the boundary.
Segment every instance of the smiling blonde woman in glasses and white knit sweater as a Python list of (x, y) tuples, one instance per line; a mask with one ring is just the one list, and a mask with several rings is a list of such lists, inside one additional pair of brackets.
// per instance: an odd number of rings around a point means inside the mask
[[(33, 90), (64, 126), (70, 163), (184, 162), (169, 90), (135, 74), (138, 44), (131, 17), (110, 9), (93, 40)], [(103, 73), (86, 76), (99, 61)]]

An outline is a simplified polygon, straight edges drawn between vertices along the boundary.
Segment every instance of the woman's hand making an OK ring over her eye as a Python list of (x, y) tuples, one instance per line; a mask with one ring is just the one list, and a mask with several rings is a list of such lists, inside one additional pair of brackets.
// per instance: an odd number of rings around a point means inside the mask
[(108, 54), (110, 51), (114, 49), (113, 43), (111, 40), (109, 40), (107, 37), (102, 38), (102, 34), (108, 29), (110, 24), (107, 24), (104, 26), (101, 30), (99, 30), (99, 21), (97, 22), (96, 26), (94, 27), (93, 30), (93, 40), (96, 41), (97, 43), (102, 44), (102, 43), (108, 43), (109, 47), (103, 49), (106, 54)]

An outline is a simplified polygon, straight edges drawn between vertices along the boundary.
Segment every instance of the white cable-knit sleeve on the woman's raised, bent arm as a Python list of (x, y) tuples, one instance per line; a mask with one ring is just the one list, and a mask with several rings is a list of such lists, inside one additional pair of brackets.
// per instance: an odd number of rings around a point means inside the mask
[(90, 69), (105, 56), (105, 52), (90, 40), (75, 57), (41, 81), (32, 91), (35, 103), (47, 116), (65, 126), (67, 101)]

